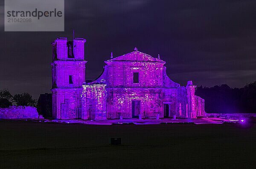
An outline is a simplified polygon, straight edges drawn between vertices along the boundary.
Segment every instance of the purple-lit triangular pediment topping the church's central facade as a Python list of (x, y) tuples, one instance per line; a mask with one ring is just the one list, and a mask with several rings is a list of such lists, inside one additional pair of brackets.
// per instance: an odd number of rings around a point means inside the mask
[(134, 51), (128, 54), (124, 54), (122, 56), (115, 57), (113, 59), (110, 59), (108, 61), (144, 61), (144, 62), (162, 62), (165, 63), (165, 61), (160, 60), (156, 57), (152, 57), (149, 54), (145, 54), (140, 51)]

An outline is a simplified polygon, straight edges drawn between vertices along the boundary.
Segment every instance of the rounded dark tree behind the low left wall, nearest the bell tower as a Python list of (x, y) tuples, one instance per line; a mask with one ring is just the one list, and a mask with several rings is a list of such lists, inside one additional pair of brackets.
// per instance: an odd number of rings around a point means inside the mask
[(37, 100), (33, 99), (29, 93), (16, 94), (13, 96), (13, 100), (17, 106), (33, 106), (36, 107)]

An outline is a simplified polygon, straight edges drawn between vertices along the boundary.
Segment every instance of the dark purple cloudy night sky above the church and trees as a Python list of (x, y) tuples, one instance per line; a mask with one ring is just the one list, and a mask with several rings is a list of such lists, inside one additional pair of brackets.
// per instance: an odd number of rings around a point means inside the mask
[(87, 39), (86, 79), (99, 76), (110, 53), (140, 52), (166, 61), (186, 85), (242, 87), (256, 80), (255, 0), (66, 0), (65, 32), (4, 32), (0, 1), (0, 89), (50, 92), (57, 37)]

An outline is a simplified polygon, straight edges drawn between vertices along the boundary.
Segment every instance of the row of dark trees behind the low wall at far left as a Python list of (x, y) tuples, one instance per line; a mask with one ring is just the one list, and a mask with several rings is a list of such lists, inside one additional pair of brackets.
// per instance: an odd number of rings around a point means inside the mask
[(8, 89), (0, 90), (0, 108), (8, 108), (12, 105), (36, 107), (37, 100), (27, 92), (12, 95)]

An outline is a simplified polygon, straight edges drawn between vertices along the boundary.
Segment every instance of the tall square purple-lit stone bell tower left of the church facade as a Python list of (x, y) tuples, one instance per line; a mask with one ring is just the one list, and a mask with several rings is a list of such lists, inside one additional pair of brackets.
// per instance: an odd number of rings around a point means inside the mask
[(85, 82), (83, 38), (57, 38), (52, 42), (52, 117), (81, 118), (81, 93)]

